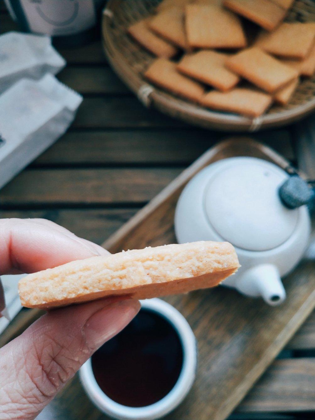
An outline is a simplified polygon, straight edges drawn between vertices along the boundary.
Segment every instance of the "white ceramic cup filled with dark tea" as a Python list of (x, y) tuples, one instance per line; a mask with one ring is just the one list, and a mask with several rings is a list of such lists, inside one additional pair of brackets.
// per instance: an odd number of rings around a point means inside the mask
[(189, 323), (162, 299), (141, 301), (136, 318), (79, 370), (91, 401), (118, 420), (155, 420), (188, 394), (197, 368)]

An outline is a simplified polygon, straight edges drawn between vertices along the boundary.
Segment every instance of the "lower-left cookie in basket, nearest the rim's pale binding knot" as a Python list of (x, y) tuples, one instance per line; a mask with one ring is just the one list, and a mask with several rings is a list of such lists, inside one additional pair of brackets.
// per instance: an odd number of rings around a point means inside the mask
[(205, 93), (202, 84), (178, 73), (176, 63), (166, 58), (154, 60), (145, 71), (144, 77), (153, 84), (194, 102), (200, 102)]

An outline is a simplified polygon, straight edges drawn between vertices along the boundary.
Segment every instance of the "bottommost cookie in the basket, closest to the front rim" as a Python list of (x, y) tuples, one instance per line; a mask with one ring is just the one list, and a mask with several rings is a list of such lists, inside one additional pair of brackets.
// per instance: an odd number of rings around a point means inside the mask
[(236, 87), (229, 92), (208, 92), (202, 101), (202, 105), (221, 111), (233, 112), (259, 117), (272, 103), (272, 97), (264, 92), (254, 89)]

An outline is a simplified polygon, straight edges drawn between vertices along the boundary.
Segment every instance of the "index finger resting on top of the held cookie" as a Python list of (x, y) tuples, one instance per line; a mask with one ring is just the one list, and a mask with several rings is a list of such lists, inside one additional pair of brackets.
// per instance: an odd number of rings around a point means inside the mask
[(52, 222), (0, 220), (0, 275), (33, 273), (108, 251)]

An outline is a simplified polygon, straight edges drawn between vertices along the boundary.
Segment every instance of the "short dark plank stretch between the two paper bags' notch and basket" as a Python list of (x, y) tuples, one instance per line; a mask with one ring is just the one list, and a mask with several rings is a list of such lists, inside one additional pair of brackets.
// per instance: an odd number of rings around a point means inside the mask
[(68, 66), (58, 79), (81, 94), (133, 95), (108, 66)]

